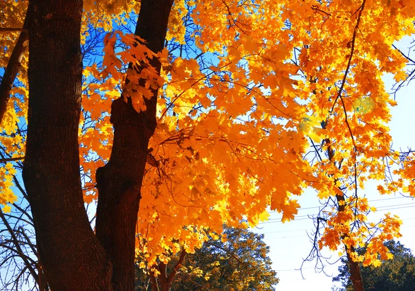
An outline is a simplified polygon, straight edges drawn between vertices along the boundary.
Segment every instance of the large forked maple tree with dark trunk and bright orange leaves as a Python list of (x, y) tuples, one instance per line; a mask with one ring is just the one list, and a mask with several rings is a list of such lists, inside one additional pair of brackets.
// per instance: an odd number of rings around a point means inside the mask
[[(265, 220), (267, 206), (291, 220), (306, 187), (354, 193), (321, 247), (347, 245), (371, 263), (386, 252), (377, 242), (398, 236), (393, 217), (377, 236), (350, 222), (369, 209), (358, 188), (398, 159), (381, 75), (405, 79), (391, 44), (414, 33), (412, 0), (0, 5), (0, 65), (11, 73), (1, 80), (0, 202), (10, 210), (21, 173), (52, 290), (133, 290), (140, 243), (152, 265), (223, 224)], [(100, 33), (104, 53), (84, 64), (81, 45)], [(309, 163), (310, 139), (335, 155)], [(409, 174), (380, 191), (410, 192)], [(84, 202), (96, 200), (92, 229)], [(367, 238), (375, 243), (357, 257)]]

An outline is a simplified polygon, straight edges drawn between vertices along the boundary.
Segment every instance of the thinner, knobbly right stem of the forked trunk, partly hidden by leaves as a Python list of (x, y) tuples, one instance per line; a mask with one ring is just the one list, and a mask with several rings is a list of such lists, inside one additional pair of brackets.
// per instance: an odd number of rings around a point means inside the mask
[[(173, 0), (142, 0), (136, 35), (147, 41), (151, 51), (163, 49)], [(160, 73), (160, 62), (151, 60)], [(140, 81), (144, 85), (144, 80)], [(123, 98), (111, 106), (114, 140), (107, 165), (97, 170), (98, 208), (96, 236), (113, 265), (113, 288), (134, 288), (134, 258), (140, 188), (150, 137), (156, 128), (158, 90), (145, 100), (147, 110), (136, 112)]]

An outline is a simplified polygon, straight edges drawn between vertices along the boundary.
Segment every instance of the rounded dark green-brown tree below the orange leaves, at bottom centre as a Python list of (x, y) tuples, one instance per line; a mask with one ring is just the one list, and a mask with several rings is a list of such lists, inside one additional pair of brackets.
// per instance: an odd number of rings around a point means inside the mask
[[(225, 228), (222, 236), (210, 237), (194, 254), (182, 251), (172, 256), (167, 266), (159, 262), (147, 270), (138, 268), (136, 290), (164, 290), (160, 276), (172, 272), (174, 277), (167, 290), (275, 290), (279, 280), (263, 238), (263, 234), (248, 229)], [(145, 265), (145, 258), (138, 261)], [(162, 267), (167, 269), (164, 274)]]

